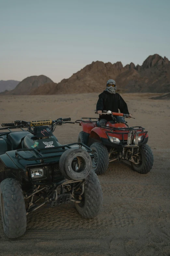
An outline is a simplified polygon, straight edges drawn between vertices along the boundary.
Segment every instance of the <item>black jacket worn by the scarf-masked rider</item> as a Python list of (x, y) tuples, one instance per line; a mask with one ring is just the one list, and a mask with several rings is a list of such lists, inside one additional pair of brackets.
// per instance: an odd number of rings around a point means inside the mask
[[(123, 114), (129, 114), (126, 102), (122, 99), (120, 94), (110, 94), (107, 91), (103, 91), (99, 95), (99, 99), (96, 105), (96, 111), (98, 110), (110, 110), (112, 112), (119, 112)], [(101, 115), (100, 119), (111, 120), (110, 115)]]

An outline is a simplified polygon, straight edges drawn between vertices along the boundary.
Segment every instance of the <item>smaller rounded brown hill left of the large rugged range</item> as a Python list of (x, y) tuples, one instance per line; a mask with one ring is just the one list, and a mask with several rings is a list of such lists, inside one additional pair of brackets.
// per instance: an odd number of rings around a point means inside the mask
[(5, 95), (27, 95), (36, 88), (45, 83), (53, 83), (53, 81), (46, 76), (32, 76), (23, 79), (12, 91), (4, 92)]

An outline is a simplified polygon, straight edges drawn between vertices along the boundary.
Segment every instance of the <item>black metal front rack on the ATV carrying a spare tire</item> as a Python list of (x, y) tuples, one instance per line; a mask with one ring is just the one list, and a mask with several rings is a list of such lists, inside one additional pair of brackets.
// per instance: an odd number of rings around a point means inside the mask
[[(21, 158), (23, 158), (26, 161), (33, 161), (33, 160), (41, 160), (41, 162), (44, 162), (44, 159), (49, 159), (49, 158), (55, 158), (55, 155), (52, 156), (45, 156), (45, 154), (50, 154), (50, 153), (59, 153), (59, 152), (64, 152), (65, 150), (72, 148), (72, 145), (79, 145), (79, 148), (81, 148), (82, 146), (85, 147), (87, 149), (88, 153), (92, 152), (92, 149), (86, 145), (84, 145), (83, 143), (72, 143), (72, 144), (67, 144), (67, 145), (62, 145), (62, 146), (57, 146), (57, 147), (51, 147), (51, 148), (39, 148), (39, 149), (35, 149), (35, 148), (21, 148), (21, 149), (17, 149), (15, 151), (15, 156), (18, 157), (20, 156)], [(61, 149), (60, 149), (61, 148)], [(65, 149), (67, 148), (67, 149)], [(60, 149), (60, 150), (59, 150)], [(20, 151), (33, 151), (36, 152), (40, 157), (35, 157), (35, 158), (27, 158), (24, 157)], [(46, 151), (46, 152), (44, 152)], [(61, 154), (62, 155), (62, 154)], [(57, 155), (57, 157), (61, 157), (61, 155)], [(33, 154), (34, 156), (34, 154)]]

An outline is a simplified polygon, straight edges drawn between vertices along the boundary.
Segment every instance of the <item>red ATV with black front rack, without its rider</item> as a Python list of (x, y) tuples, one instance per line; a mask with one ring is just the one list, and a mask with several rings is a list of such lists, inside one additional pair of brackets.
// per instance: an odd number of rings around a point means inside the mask
[(103, 111), (102, 114), (112, 116), (112, 121), (107, 122), (106, 126), (99, 127), (98, 118), (83, 117), (76, 121), (83, 128), (78, 142), (92, 149), (95, 173), (105, 173), (109, 162), (115, 160), (130, 161), (134, 171), (148, 173), (153, 166), (153, 153), (147, 144), (148, 132), (145, 128), (129, 127), (124, 119), (130, 117), (129, 114), (111, 111)]

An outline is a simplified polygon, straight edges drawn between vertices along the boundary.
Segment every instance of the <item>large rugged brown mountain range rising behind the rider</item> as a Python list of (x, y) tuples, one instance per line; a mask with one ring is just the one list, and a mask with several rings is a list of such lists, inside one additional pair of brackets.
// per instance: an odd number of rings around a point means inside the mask
[[(31, 94), (74, 94), (102, 92), (108, 79), (116, 80), (122, 92), (170, 92), (170, 61), (158, 54), (149, 56), (142, 66), (130, 63), (123, 67), (121, 62), (92, 62), (60, 83), (44, 84)], [(49, 89), (48, 89), (49, 87)]]

